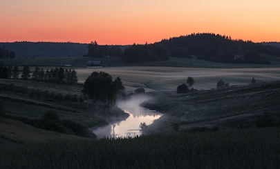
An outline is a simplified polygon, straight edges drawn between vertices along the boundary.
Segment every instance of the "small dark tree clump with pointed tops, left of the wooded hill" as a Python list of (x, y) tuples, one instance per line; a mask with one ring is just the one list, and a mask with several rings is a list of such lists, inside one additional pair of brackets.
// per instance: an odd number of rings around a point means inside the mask
[(100, 46), (96, 41), (91, 41), (84, 57), (122, 57), (122, 48), (120, 46)]

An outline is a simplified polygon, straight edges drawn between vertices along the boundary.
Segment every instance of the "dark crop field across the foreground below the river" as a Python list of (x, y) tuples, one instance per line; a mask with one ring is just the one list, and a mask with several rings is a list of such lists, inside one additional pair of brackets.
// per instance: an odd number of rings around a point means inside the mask
[(280, 128), (0, 146), (0, 168), (279, 168)]

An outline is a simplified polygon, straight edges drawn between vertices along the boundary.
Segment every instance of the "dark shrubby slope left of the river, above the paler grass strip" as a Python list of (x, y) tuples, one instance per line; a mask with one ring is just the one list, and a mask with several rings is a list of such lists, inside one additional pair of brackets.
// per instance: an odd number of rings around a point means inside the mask
[[(118, 85), (120, 83), (118, 81)], [(106, 125), (112, 118), (127, 118), (126, 113), (113, 105), (110, 110), (88, 108), (81, 91), (80, 84), (62, 86), (41, 81), (3, 79), (0, 83), (0, 99), (3, 100), (1, 115), (37, 128), (90, 138), (95, 137), (88, 131), (89, 127)]]

